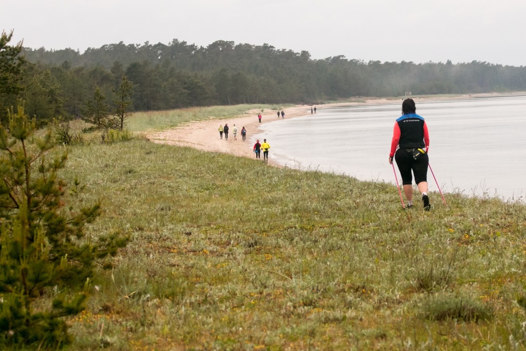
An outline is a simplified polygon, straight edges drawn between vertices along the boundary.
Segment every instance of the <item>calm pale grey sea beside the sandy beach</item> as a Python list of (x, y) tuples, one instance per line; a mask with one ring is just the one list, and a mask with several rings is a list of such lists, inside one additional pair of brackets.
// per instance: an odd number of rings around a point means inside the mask
[[(388, 163), (396, 104), (318, 108), (260, 126), (270, 158), (301, 169), (395, 183)], [(429, 163), (442, 192), (526, 197), (526, 96), (417, 101), (430, 135)], [(400, 179), (398, 168), (395, 167)], [(428, 172), (430, 191), (438, 191)]]

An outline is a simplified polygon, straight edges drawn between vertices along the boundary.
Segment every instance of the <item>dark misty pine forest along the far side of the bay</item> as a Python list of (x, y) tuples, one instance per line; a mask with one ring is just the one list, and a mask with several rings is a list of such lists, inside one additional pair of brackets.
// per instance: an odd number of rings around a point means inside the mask
[(24, 48), (27, 110), (39, 118), (79, 116), (95, 89), (110, 96), (123, 76), (133, 83), (135, 110), (252, 103), (317, 103), (351, 96), (463, 94), (526, 90), (526, 67), (487, 62), (363, 62), (217, 41)]

